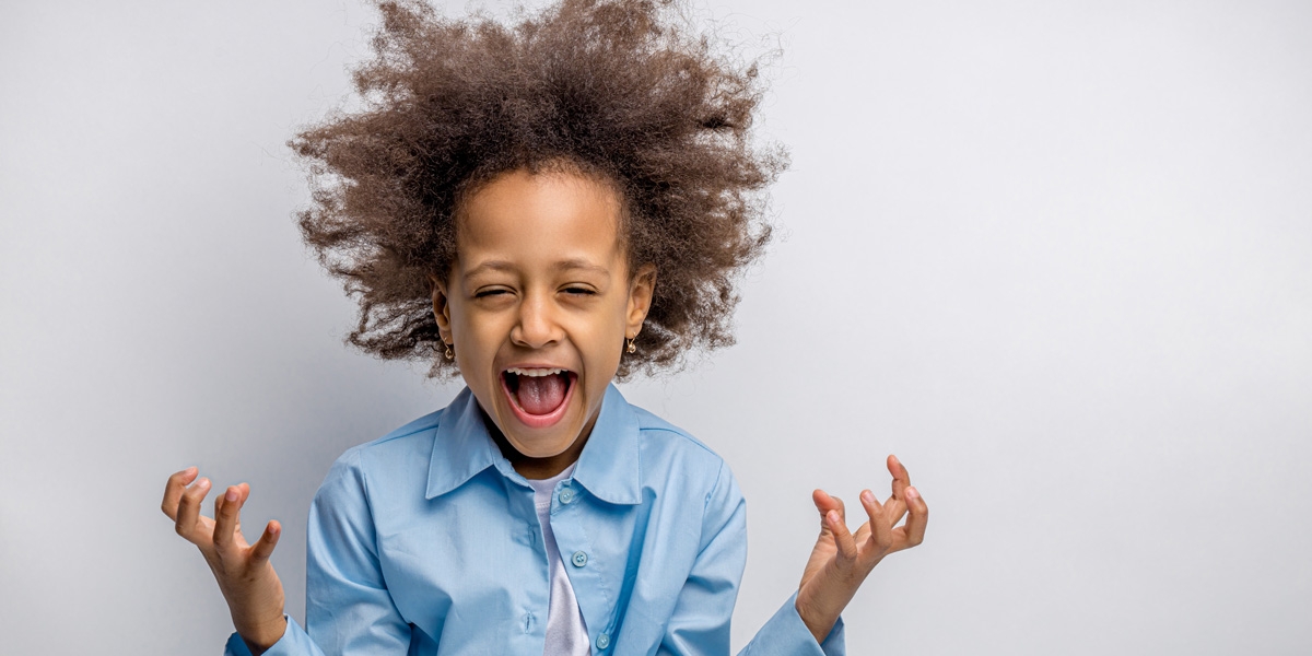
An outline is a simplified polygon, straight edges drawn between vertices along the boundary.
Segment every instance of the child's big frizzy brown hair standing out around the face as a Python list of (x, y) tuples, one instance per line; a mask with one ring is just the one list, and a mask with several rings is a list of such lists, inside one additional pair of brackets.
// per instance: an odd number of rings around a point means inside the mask
[(764, 253), (764, 189), (787, 167), (782, 146), (750, 139), (756, 62), (689, 34), (673, 0), (562, 0), (513, 26), (377, 4), (374, 56), (352, 71), (363, 109), (287, 142), (311, 180), (302, 236), (358, 297), (346, 342), (455, 375), (437, 356), (429, 274), (455, 262), (462, 198), (509, 171), (564, 165), (618, 192), (630, 276), (634, 262), (657, 272), (617, 378), (733, 344), (735, 279)]

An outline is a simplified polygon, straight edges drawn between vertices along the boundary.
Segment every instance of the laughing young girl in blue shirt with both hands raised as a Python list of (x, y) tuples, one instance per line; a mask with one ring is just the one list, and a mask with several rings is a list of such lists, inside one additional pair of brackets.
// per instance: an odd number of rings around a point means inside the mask
[[(728, 653), (743, 495), (611, 380), (731, 342), (732, 277), (769, 236), (750, 194), (783, 165), (748, 146), (754, 68), (652, 3), (564, 0), (513, 30), (382, 9), (356, 73), (369, 109), (293, 142), (338, 181), (300, 226), (361, 297), (353, 344), (466, 388), (329, 470), (306, 630), (269, 563), (279, 525), (241, 534), (249, 487), (211, 520), (209, 480), (169, 478), (163, 509), (232, 613), (227, 653)], [(844, 652), (848, 601), (925, 533), (907, 470), (888, 471), (892, 497), (865, 491), (855, 534), (815, 491), (798, 592), (741, 653)]]

